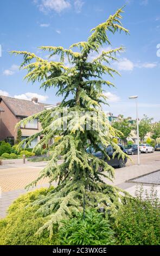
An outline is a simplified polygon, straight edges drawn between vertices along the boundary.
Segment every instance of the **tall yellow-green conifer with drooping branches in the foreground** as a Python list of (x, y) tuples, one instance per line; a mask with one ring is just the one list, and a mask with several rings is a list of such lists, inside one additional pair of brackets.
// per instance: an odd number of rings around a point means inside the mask
[[(40, 47), (42, 51), (49, 51), (50, 57), (59, 55), (59, 62), (42, 59), (26, 51), (12, 52), (23, 56), (21, 68), (28, 71), (25, 78), (29, 82), (39, 81), (44, 90), (56, 87), (57, 95), (63, 95), (61, 104), (56, 108), (44, 110), (20, 122), (25, 125), (28, 121), (39, 118), (42, 131), (25, 139), (19, 147), (24, 142), (27, 147), (41, 133), (44, 136), (36, 147), (48, 145), (49, 139), (54, 136), (62, 136), (61, 141), (54, 144), (52, 160), (42, 170), (39, 178), (31, 184), (36, 184), (44, 177), (48, 177), (50, 182), (57, 181), (55, 190), (34, 202), (34, 205), (41, 206), (39, 211), (47, 216), (46, 223), (38, 231), (39, 234), (48, 228), (52, 235), (54, 223), (59, 223), (63, 218), (72, 217), (75, 211), (82, 211), (85, 207), (95, 209), (103, 207), (106, 213), (110, 212), (113, 216), (125, 200), (119, 193), (119, 188), (107, 185), (102, 179), (104, 176), (112, 180), (114, 169), (103, 159), (87, 153), (85, 149), (85, 145), (90, 141), (91, 147), (103, 151), (107, 158), (103, 147), (111, 144), (115, 149), (114, 155), (119, 154), (123, 159), (125, 157), (118, 145), (112, 141), (113, 137), (119, 136), (118, 131), (110, 126), (106, 115), (101, 110), (101, 103), (106, 100), (103, 89), (105, 86), (113, 86), (110, 81), (104, 80), (103, 75), (113, 77), (113, 74), (119, 74), (109, 64), (112, 60), (117, 60), (116, 53), (123, 52), (124, 48), (112, 48), (99, 53), (102, 46), (111, 45), (108, 32), (113, 34), (116, 31), (129, 32), (121, 25), (121, 13), (123, 9), (110, 15), (104, 23), (92, 29), (92, 34), (87, 41), (73, 44), (69, 49), (61, 46)], [(73, 51), (73, 48), (76, 51)], [(97, 57), (91, 60), (91, 53), (96, 53)], [(69, 68), (65, 66), (65, 57), (71, 65)], [(65, 107), (68, 111), (66, 117), (63, 115)], [(72, 114), (75, 111), (78, 116)], [(81, 116), (82, 112), (83, 116)], [(97, 119), (94, 115), (88, 117), (86, 114), (88, 112), (94, 112), (103, 118)], [(84, 128), (88, 125), (88, 119), (91, 124), (97, 125), (97, 129)], [(60, 124), (67, 124), (67, 129), (60, 130)], [(59, 155), (64, 159), (61, 164), (57, 163)], [(100, 166), (104, 168), (105, 173), (99, 173)]]

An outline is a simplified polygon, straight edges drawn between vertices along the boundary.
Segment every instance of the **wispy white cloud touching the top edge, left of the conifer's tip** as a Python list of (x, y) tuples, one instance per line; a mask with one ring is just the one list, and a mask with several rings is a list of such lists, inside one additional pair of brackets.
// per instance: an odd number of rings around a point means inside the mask
[(49, 11), (61, 13), (61, 11), (71, 8), (71, 4), (67, 0), (41, 0), (41, 4), (38, 4), (38, 7), (43, 13), (48, 13)]

